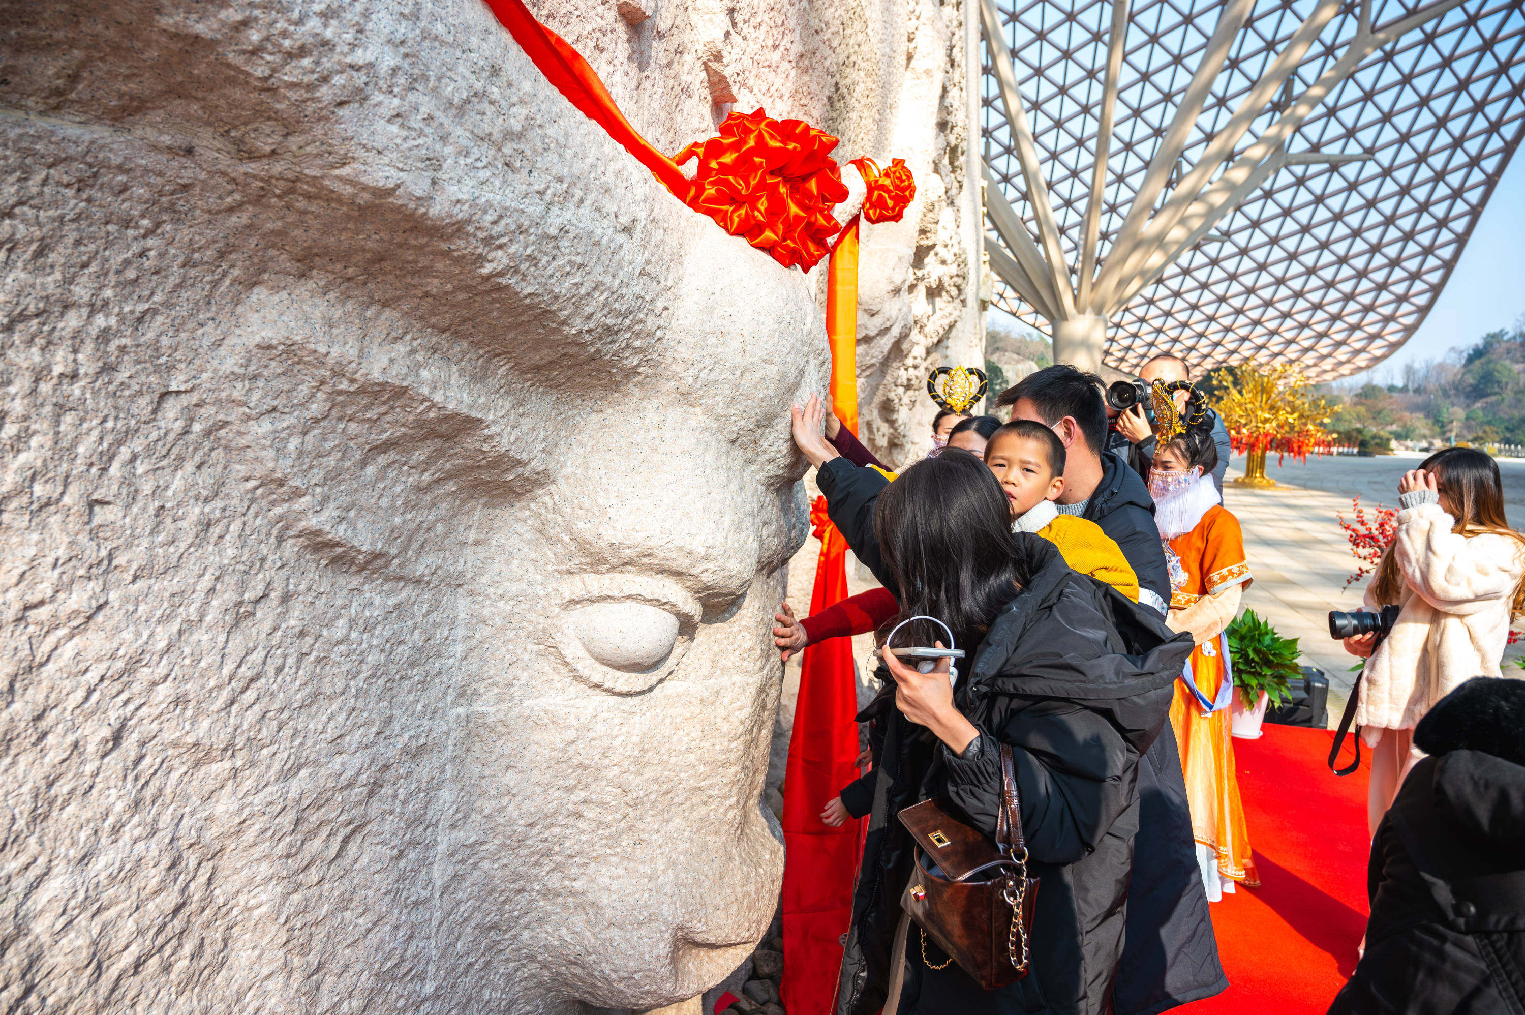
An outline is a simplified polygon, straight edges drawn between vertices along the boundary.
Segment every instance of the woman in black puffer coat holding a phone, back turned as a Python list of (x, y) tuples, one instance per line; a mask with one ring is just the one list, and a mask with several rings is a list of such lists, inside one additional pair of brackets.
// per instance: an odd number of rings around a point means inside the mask
[[(1000, 743), (1013, 746), (1029, 873), (1042, 878), (1031, 972), (982, 991), (958, 965), (935, 969), (947, 955), (912, 925), (897, 1015), (1110, 1010), (1136, 766), (1167, 722), (1191, 636), (1010, 525), (994, 476), (958, 450), (917, 462), (880, 496), (875, 528), (903, 615), (946, 621), (971, 665), (950, 688), (946, 664), (920, 675), (895, 661), (860, 716), (874, 720), (877, 778), (837, 997), (843, 1015), (872, 1015), (891, 1000), (913, 852), (897, 814), (939, 797), (993, 835)], [(917, 630), (915, 643), (944, 641), (939, 630)]]

